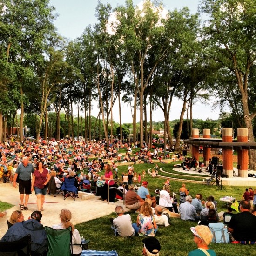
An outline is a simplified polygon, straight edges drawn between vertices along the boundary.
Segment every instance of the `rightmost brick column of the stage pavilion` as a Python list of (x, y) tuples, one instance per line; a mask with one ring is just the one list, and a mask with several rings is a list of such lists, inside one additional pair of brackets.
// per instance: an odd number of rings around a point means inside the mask
[[(248, 142), (248, 129), (238, 128), (237, 129), (237, 142)], [(248, 177), (248, 149), (237, 150), (237, 165), (240, 166), (238, 169), (238, 176), (242, 178)]]

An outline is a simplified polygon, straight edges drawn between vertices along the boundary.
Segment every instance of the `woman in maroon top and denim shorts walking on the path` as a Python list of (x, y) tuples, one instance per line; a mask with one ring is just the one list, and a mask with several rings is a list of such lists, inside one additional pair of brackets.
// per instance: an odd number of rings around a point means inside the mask
[(43, 204), (47, 192), (47, 184), (50, 181), (50, 174), (44, 167), (43, 162), (38, 162), (33, 173), (31, 191), (35, 191), (36, 203), (39, 211), (43, 211)]

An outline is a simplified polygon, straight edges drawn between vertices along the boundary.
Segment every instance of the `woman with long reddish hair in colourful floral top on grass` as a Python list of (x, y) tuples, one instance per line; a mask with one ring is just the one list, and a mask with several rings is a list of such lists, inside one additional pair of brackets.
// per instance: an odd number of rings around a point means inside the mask
[(141, 211), (137, 216), (137, 222), (133, 223), (132, 226), (135, 229), (135, 233), (139, 236), (155, 236), (158, 227), (148, 202), (145, 202), (141, 206)]

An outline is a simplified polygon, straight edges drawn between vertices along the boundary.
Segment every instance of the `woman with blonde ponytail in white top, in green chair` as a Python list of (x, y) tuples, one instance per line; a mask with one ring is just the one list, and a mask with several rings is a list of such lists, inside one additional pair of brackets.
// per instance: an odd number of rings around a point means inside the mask
[[(53, 229), (67, 229), (71, 227), (72, 231), (72, 243), (81, 244), (81, 237), (77, 229), (74, 228), (74, 225), (70, 222), (71, 212), (68, 209), (62, 209), (60, 213), (61, 223), (53, 225)], [(82, 249), (80, 245), (73, 245), (73, 254), (72, 256), (81, 255)]]

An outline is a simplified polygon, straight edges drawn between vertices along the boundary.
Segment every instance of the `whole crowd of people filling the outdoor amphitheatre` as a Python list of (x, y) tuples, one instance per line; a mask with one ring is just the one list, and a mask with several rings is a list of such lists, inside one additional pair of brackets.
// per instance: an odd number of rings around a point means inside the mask
[[(115, 147), (124, 147), (123, 145), (115, 145)], [(161, 249), (157, 246), (158, 240), (155, 240), (155, 234), (158, 231), (158, 226), (169, 226), (172, 217), (181, 218), (184, 221), (198, 222), (198, 226), (191, 228), (194, 234), (194, 242), (200, 250), (207, 251), (209, 255), (214, 256), (215, 253), (209, 250), (208, 245), (211, 241), (211, 233), (207, 227), (210, 223), (218, 223), (219, 216), (217, 213), (217, 202), (211, 195), (207, 200), (202, 199), (200, 193), (195, 195), (195, 198), (189, 195), (189, 189), (186, 184), (182, 183), (179, 190), (180, 202), (175, 201), (170, 195), (170, 183), (167, 180), (163, 188), (159, 191), (159, 202), (155, 196), (151, 196), (148, 190), (148, 182), (144, 180), (145, 171), (142, 174), (137, 174), (133, 165), (128, 166), (127, 173), (121, 175), (121, 181), (124, 186), (118, 186), (113, 179), (117, 178), (117, 168), (115, 166), (114, 157), (118, 157), (117, 151), (113, 145), (105, 148), (104, 143), (88, 143), (80, 141), (72, 143), (69, 140), (63, 141), (44, 141), (39, 143), (26, 141), (21, 143), (8, 142), (5, 145), (0, 145), (1, 148), (1, 162), (2, 166), (7, 167), (7, 172), (10, 179), (12, 178), (13, 186), (19, 182), (20, 193), (20, 210), (12, 213), (9, 219), (10, 228), (4, 235), (1, 241), (15, 241), (20, 234), (25, 234), (31, 231), (31, 227), (36, 227), (37, 235), (40, 232), (40, 239), (44, 239), (45, 231), (40, 224), (42, 218), (42, 211), (44, 211), (45, 195), (48, 189), (48, 183), (51, 177), (54, 177), (54, 182), (57, 188), (60, 188), (64, 178), (74, 179), (74, 186), (81, 189), (83, 184), (91, 184), (97, 187), (98, 193), (103, 200), (115, 202), (117, 196), (113, 187), (118, 187), (119, 190), (125, 191), (125, 206), (128, 209), (138, 213), (135, 223), (132, 223), (131, 216), (124, 214), (122, 206), (117, 206), (115, 212), (117, 218), (111, 219), (111, 227), (114, 229), (115, 235), (128, 237), (128, 236), (145, 236), (148, 239), (153, 239), (152, 243), (155, 248), (148, 249), (147, 242), (144, 243), (145, 255), (151, 255), (150, 250), (158, 255)], [(72, 150), (70, 150), (72, 148)], [(148, 153), (149, 152), (149, 153)], [(159, 153), (160, 152), (160, 153)], [(152, 158), (161, 158), (163, 152), (155, 148), (154, 152), (150, 152), (147, 148), (142, 148), (138, 153), (138, 160), (147, 159), (150, 162)], [(88, 156), (101, 157), (105, 161), (96, 161), (95, 159), (89, 161)], [(166, 156), (165, 156), (166, 157)], [(72, 160), (70, 160), (72, 159)], [(129, 152), (125, 155), (125, 161), (131, 161), (133, 158)], [(101, 160), (101, 159), (100, 159)], [(160, 159), (161, 160), (161, 159)], [(65, 166), (68, 165), (66, 169)], [(89, 173), (84, 175), (82, 170), (87, 167)], [(154, 168), (153, 178), (158, 172), (159, 167), (156, 164)], [(13, 175), (13, 171), (15, 174)], [(103, 174), (104, 173), (104, 174)], [(31, 180), (32, 176), (32, 180)], [(90, 180), (92, 182), (90, 182)], [(136, 188), (134, 184), (140, 183), (141, 186)], [(127, 185), (127, 186), (125, 186)], [(101, 188), (101, 189), (99, 189)], [(109, 189), (109, 191), (108, 191)], [(137, 191), (136, 191), (137, 190)], [(24, 221), (22, 210), (28, 210), (29, 195), (35, 191), (37, 197), (37, 211), (34, 211), (27, 221)], [(108, 198), (109, 195), (109, 198)], [(230, 238), (233, 242), (241, 241), (256, 241), (256, 209), (253, 209), (256, 204), (256, 189), (246, 189), (243, 194), (244, 200), (240, 202), (241, 213), (234, 215), (229, 222)], [(122, 195), (121, 195), (122, 198)], [(2, 213), (2, 216), (4, 213)], [(2, 217), (0, 215), (0, 217)], [(61, 222), (53, 226), (54, 229), (65, 229), (71, 227), (73, 243), (81, 243), (81, 237), (77, 229), (71, 221), (71, 212), (68, 209), (62, 209), (60, 213)], [(18, 224), (20, 223), (20, 224)], [(240, 224), (243, 223), (243, 224)], [(15, 229), (12, 228), (16, 225)], [(202, 226), (206, 226), (204, 228)], [(26, 233), (27, 234), (27, 233)], [(35, 239), (37, 239), (35, 236)], [(144, 240), (143, 240), (144, 241)], [(40, 252), (36, 246), (33, 250), (39, 253), (44, 253), (47, 249), (44, 241), (32, 241), (37, 245), (40, 242)], [(159, 242), (158, 242), (159, 243)], [(160, 244), (159, 244), (160, 245)], [(74, 255), (81, 254), (81, 246), (73, 248)], [(204, 251), (203, 251), (204, 252)], [(189, 255), (198, 255), (198, 251), (190, 252)]]

